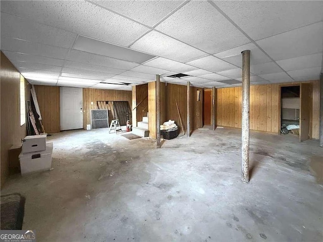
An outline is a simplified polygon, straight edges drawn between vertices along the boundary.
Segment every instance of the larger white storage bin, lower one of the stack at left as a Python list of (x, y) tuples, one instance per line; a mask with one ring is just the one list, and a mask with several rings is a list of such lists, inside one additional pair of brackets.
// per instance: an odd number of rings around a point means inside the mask
[(20, 153), (21, 174), (28, 174), (36, 171), (49, 170), (51, 167), (52, 143), (46, 144), (46, 150)]

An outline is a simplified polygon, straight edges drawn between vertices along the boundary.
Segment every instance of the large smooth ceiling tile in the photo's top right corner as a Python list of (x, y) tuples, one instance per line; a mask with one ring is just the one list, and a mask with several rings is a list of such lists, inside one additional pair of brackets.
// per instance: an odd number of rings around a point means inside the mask
[(254, 40), (322, 20), (322, 1), (214, 1), (214, 3)]

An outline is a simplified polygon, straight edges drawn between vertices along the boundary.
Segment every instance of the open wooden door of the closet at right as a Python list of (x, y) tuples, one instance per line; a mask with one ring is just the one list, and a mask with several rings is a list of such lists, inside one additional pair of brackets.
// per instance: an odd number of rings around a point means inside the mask
[(302, 83), (300, 89), (300, 118), (299, 118), (299, 141), (302, 142), (309, 138), (309, 107), (310, 99), (310, 85), (309, 83)]

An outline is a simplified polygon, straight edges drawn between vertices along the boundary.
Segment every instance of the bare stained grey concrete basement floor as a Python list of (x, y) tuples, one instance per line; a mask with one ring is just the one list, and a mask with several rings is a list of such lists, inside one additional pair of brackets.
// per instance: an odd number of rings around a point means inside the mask
[(155, 149), (107, 129), (62, 132), (48, 137), (54, 169), (12, 176), (2, 194), (26, 197), (23, 228), (38, 241), (322, 241), (318, 142), (251, 133), (244, 184), (240, 139), (197, 130)]

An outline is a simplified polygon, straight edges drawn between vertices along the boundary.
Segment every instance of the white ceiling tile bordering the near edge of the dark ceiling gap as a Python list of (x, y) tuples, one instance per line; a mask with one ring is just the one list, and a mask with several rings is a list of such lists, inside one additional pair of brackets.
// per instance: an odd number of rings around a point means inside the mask
[(177, 73), (184, 73), (184, 72), (189, 72), (189, 71), (198, 69), (196, 67), (192, 67), (192, 66), (189, 66), (180, 62), (175, 62), (175, 61), (172, 61), (171, 59), (165, 59), (162, 57), (152, 59), (151, 61), (146, 62), (144, 65), (149, 67), (165, 69), (165, 70), (169, 70)]

